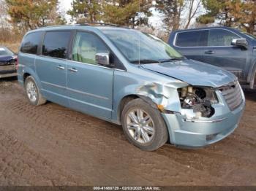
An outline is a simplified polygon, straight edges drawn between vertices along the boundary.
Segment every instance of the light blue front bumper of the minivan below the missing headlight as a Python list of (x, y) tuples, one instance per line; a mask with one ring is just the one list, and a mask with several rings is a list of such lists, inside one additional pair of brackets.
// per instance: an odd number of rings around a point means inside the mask
[(170, 143), (184, 147), (204, 147), (229, 136), (238, 127), (244, 112), (245, 99), (234, 111), (230, 111), (224, 98), (219, 97), (219, 104), (214, 104), (212, 117), (188, 118), (184, 114), (162, 113), (166, 122)]

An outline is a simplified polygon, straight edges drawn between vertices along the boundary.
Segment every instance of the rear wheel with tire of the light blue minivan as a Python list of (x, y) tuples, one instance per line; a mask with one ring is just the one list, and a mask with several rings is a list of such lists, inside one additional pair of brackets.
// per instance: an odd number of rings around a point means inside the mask
[(27, 77), (25, 80), (25, 90), (26, 96), (29, 100), (29, 103), (33, 106), (39, 106), (45, 104), (46, 99), (42, 97), (39, 92), (37, 82), (34, 80), (34, 77)]

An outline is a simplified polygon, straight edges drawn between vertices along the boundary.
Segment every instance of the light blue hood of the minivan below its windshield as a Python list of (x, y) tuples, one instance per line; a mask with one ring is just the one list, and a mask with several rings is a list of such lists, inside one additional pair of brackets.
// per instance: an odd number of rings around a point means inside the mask
[(220, 87), (237, 80), (237, 77), (229, 71), (194, 60), (143, 64), (141, 67), (179, 79), (190, 85)]

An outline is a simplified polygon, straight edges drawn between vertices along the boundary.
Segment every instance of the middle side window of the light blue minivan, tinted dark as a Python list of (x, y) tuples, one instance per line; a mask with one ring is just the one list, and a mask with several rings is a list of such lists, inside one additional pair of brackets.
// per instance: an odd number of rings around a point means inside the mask
[(50, 31), (45, 34), (42, 55), (54, 58), (67, 58), (71, 31)]

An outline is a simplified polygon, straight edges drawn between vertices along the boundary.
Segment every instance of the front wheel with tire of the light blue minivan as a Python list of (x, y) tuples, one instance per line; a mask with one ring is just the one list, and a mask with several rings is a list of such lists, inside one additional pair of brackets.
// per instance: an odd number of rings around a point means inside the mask
[(124, 106), (121, 124), (128, 141), (142, 150), (153, 151), (167, 142), (167, 128), (161, 113), (140, 98)]

